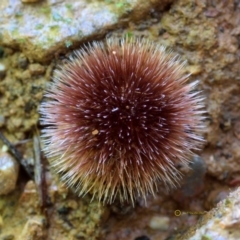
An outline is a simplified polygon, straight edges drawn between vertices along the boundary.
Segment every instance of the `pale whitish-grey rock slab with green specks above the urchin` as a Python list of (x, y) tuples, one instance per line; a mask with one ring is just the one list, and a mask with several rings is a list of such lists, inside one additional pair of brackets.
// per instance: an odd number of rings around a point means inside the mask
[(109, 29), (140, 20), (151, 8), (171, 0), (49, 0), (34, 4), (3, 0), (0, 44), (17, 47), (31, 60), (44, 61)]

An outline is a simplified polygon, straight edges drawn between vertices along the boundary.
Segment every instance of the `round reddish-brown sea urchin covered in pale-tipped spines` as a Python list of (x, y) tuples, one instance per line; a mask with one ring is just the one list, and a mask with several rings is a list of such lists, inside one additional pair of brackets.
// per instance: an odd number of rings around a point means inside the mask
[(173, 186), (202, 142), (202, 98), (182, 63), (147, 40), (75, 52), (42, 103), (44, 151), (79, 195), (134, 203)]

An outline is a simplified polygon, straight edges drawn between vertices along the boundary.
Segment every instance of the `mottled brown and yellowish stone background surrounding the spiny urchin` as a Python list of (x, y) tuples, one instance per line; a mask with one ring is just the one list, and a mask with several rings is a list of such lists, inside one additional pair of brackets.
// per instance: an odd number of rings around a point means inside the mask
[(41, 186), (18, 170), (0, 140), (0, 240), (240, 239), (239, 191), (224, 200), (240, 184), (237, 0), (2, 0), (0, 131), (33, 168), (38, 107), (53, 70), (74, 49), (109, 36), (149, 38), (186, 60), (206, 98), (204, 149), (181, 188), (160, 187), (135, 208), (78, 198), (46, 166), (46, 211)]

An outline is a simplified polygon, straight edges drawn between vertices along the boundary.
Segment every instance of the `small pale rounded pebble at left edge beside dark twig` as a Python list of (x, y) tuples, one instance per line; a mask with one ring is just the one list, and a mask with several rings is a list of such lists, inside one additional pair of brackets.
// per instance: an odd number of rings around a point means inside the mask
[(8, 153), (0, 153), (0, 195), (12, 192), (16, 187), (19, 165)]

